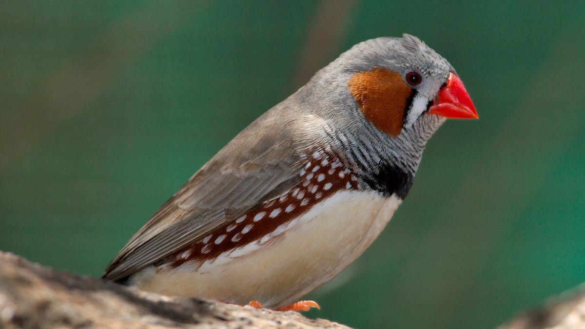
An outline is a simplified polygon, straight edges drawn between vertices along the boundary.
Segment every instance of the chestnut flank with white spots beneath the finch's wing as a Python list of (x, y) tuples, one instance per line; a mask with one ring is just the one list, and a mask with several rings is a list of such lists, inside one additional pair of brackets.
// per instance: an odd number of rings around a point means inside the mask
[(185, 262), (211, 260), (247, 244), (267, 243), (273, 235), (271, 232), (280, 225), (306, 213), (336, 192), (357, 190), (357, 180), (349, 173), (349, 169), (344, 168), (336, 157), (315, 152), (299, 173), (299, 183), (288, 193), (267, 200), (260, 207), (216, 228), (204, 239), (157, 262), (155, 267), (157, 270), (169, 270)]

